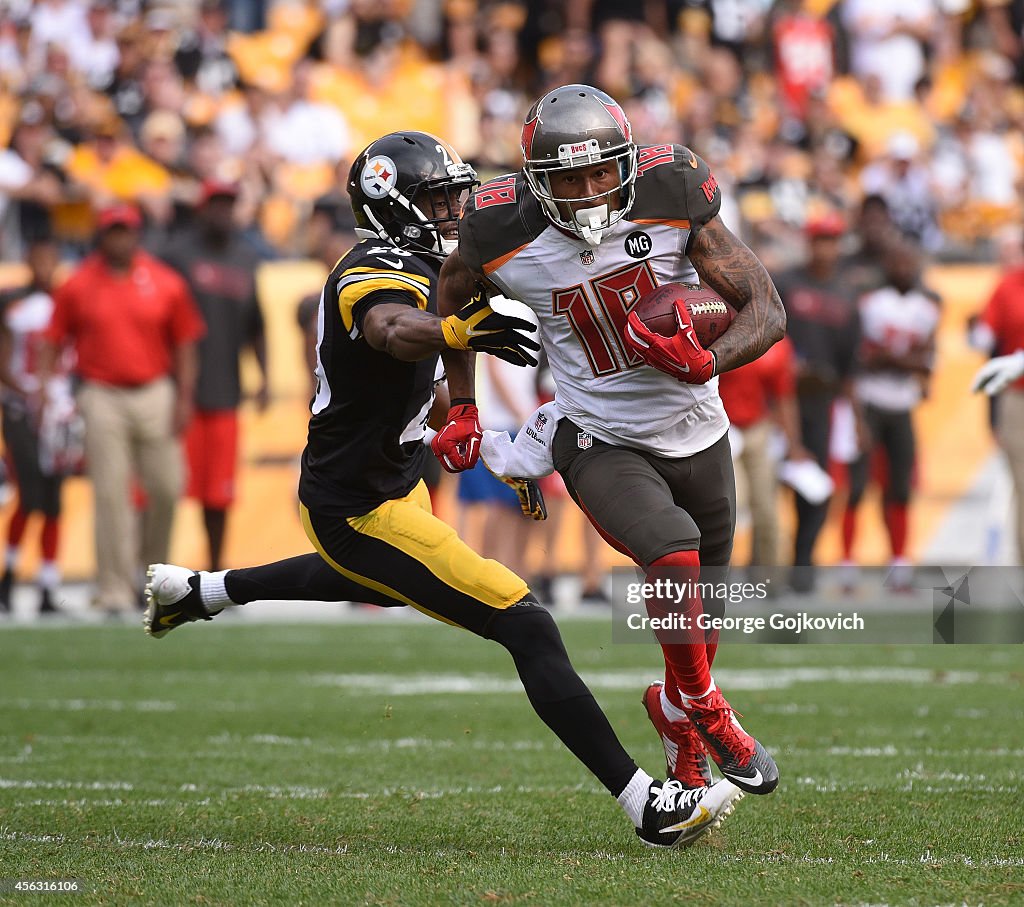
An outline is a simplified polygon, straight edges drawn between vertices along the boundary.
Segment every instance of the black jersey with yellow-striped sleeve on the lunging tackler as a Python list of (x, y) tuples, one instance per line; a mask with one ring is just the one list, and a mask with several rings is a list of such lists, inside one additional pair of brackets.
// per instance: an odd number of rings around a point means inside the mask
[(436, 312), (438, 270), (431, 259), (364, 240), (328, 276), (299, 479), (299, 500), (308, 510), (365, 514), (419, 481), (437, 356), (403, 362), (375, 350), (362, 336), (362, 318), (385, 302)]

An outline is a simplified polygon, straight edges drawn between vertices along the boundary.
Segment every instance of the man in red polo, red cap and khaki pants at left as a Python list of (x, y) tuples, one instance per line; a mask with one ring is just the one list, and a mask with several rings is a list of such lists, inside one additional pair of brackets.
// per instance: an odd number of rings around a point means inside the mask
[[(70, 345), (81, 381), (87, 470), (95, 495), (96, 607), (131, 611), (140, 564), (168, 555), (181, 494), (180, 434), (191, 418), (196, 342), (205, 333), (184, 279), (139, 248), (130, 205), (99, 212), (96, 251), (54, 293), (41, 373)], [(145, 492), (137, 538), (131, 488)]]

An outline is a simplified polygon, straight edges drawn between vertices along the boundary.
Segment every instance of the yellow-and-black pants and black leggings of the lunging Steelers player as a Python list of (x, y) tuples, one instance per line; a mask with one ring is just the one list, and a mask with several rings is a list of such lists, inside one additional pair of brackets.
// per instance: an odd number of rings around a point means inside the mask
[(586, 684), (551, 615), (526, 584), (480, 557), (430, 512), (426, 485), (358, 517), (301, 508), (317, 554), (228, 570), (231, 601), (356, 601), (409, 605), (500, 643), (530, 704), (568, 749), (617, 796), (637, 770)]

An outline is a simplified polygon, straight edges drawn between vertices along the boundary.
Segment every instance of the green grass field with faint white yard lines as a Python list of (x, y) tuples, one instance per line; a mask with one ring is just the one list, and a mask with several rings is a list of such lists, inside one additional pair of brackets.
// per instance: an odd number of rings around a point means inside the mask
[[(563, 632), (660, 771), (656, 649)], [(1024, 903), (1019, 647), (723, 649), (782, 782), (678, 852), (639, 845), (504, 652), (438, 624), (12, 628), (0, 652), (0, 876), (86, 881), (61, 903)]]

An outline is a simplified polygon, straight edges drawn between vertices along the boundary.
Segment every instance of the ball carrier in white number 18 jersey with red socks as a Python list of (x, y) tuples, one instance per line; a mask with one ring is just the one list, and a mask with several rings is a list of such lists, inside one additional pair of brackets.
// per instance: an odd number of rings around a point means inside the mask
[[(708, 165), (682, 145), (637, 145), (622, 107), (603, 91), (565, 85), (526, 116), (524, 165), (480, 186), (441, 269), (438, 311), (475, 293), (528, 305), (557, 384), (561, 420), (554, 466), (598, 531), (649, 579), (683, 588), (732, 551), (735, 488), (720, 372), (760, 356), (782, 337), (785, 313), (771, 278), (718, 216)], [(648, 331), (631, 309), (670, 282), (711, 287), (738, 314), (709, 349), (677, 305), (679, 332)], [(451, 472), (468, 469), (480, 426), (471, 354), (442, 351), (452, 408), (432, 442)], [(664, 588), (664, 587), (663, 587)], [(702, 603), (681, 606), (696, 625)], [(651, 616), (678, 610), (648, 599)], [(658, 634), (666, 683), (644, 704), (670, 772), (710, 783), (708, 755), (734, 784), (769, 793), (771, 757), (739, 726), (711, 677), (717, 635), (688, 642)]]

